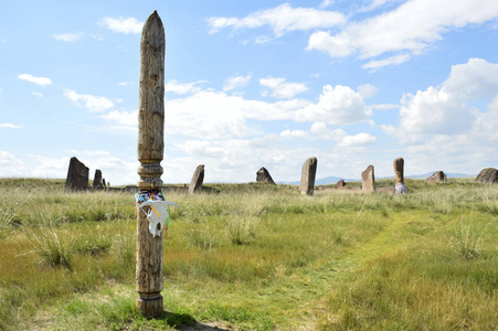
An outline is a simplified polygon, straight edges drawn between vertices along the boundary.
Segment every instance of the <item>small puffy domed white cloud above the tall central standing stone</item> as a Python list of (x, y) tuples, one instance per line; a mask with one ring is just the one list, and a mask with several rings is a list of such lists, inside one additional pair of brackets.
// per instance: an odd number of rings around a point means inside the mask
[(367, 121), (371, 111), (363, 98), (348, 86), (324, 86), (317, 104), (297, 111), (298, 121), (322, 121), (331, 125), (351, 125)]

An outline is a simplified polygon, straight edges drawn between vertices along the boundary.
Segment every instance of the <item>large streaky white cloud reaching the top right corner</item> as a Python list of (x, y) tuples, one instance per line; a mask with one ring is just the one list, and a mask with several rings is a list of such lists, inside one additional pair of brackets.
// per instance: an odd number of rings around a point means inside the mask
[(315, 32), (307, 49), (326, 51), (332, 57), (356, 52), (360, 58), (388, 52), (420, 54), (452, 29), (480, 24), (497, 17), (497, 1), (409, 0), (390, 12), (351, 22), (335, 35), (330, 31)]

